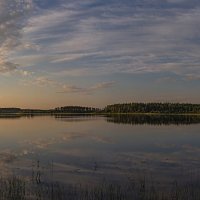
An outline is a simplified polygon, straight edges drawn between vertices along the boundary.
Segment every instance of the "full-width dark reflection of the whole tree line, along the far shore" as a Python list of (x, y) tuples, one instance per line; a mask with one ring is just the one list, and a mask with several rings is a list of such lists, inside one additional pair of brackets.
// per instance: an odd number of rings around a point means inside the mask
[(159, 114), (10, 114), (0, 115), (0, 119), (18, 119), (21, 117), (33, 118), (37, 116), (52, 116), (56, 120), (65, 122), (91, 121), (99, 116), (105, 116), (107, 122), (117, 124), (152, 124), (152, 125), (179, 125), (179, 124), (200, 124), (200, 115), (159, 115)]

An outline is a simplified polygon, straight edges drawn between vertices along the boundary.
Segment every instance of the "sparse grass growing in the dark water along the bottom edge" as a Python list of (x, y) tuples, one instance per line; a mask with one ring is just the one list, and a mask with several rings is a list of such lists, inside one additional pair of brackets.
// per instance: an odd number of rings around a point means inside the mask
[(127, 184), (101, 183), (93, 187), (33, 181), (22, 177), (0, 179), (1, 200), (199, 200), (200, 182), (178, 183), (161, 190), (146, 179)]

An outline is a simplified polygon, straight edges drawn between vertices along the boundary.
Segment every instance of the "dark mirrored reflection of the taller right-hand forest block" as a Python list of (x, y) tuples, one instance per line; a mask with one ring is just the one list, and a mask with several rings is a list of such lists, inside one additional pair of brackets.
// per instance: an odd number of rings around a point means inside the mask
[(117, 124), (152, 124), (152, 125), (179, 125), (199, 124), (198, 115), (107, 115), (107, 121)]

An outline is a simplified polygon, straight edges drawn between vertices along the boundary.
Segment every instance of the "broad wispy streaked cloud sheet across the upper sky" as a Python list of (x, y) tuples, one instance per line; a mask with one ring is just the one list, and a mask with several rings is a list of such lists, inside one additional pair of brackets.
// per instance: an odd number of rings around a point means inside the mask
[(32, 62), (45, 60), (48, 72), (59, 65), (56, 73), (66, 76), (90, 69), (187, 77), (200, 72), (199, 11), (195, 0), (69, 1), (30, 18), (23, 36), (42, 46)]

